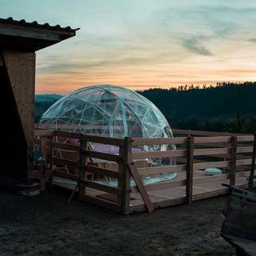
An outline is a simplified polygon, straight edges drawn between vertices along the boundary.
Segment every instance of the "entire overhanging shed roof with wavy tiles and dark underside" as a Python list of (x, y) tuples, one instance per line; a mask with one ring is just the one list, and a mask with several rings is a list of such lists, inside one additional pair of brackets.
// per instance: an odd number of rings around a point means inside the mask
[(74, 37), (76, 31), (70, 26), (38, 24), (13, 18), (0, 18), (0, 50), (36, 51)]

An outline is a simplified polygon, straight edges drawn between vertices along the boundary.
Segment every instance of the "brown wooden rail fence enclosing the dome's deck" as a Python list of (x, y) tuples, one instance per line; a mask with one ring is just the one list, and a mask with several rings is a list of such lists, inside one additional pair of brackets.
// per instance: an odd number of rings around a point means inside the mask
[[(30, 178), (40, 178), (45, 182), (52, 177), (63, 178), (73, 183), (63, 185), (73, 190), (78, 199), (114, 210), (122, 214), (169, 206), (176, 203), (191, 203), (219, 193), (194, 194), (196, 186), (214, 182), (229, 182), (230, 185), (246, 186), (252, 163), (253, 135), (208, 133), (191, 130), (174, 130), (181, 134), (177, 138), (102, 138), (98, 136), (74, 134), (62, 131), (36, 130), (35, 145), (42, 147), (46, 159), (44, 174), (34, 172)], [(194, 134), (195, 133), (195, 134)], [(206, 135), (208, 134), (208, 135)], [(114, 146), (115, 153), (95, 151), (91, 144)], [(176, 150), (138, 151), (138, 146), (175, 145)], [(171, 166), (140, 165), (151, 158), (174, 158)], [(206, 176), (206, 168), (217, 167), (222, 174)], [(35, 174), (36, 173), (36, 174)], [(179, 178), (144, 185), (142, 177), (177, 173)], [(243, 183), (241, 180), (243, 178)], [(107, 179), (114, 182), (98, 182)], [(236, 180), (239, 179), (239, 184)], [(130, 186), (131, 180), (134, 186)], [(64, 182), (65, 183), (65, 182)], [(241, 184), (240, 184), (241, 183)], [(62, 186), (61, 182), (54, 182)], [(44, 187), (42, 185), (42, 187)], [(162, 202), (152, 200), (158, 191), (185, 188), (185, 196), (172, 196)], [(226, 188), (222, 188), (222, 192)], [(134, 200), (134, 198), (138, 198)], [(134, 200), (134, 201), (132, 201)]]

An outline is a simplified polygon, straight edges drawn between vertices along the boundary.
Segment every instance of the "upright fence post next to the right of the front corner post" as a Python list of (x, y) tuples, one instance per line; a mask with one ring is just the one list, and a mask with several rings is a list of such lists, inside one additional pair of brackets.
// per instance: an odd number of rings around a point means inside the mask
[(186, 141), (186, 200), (189, 204), (193, 199), (193, 151), (194, 138), (189, 136)]

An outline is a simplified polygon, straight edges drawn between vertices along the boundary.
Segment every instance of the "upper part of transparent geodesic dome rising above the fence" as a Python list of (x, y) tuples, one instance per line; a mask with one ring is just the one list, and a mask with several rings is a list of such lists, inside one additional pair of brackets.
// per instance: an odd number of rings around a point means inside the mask
[(118, 86), (90, 86), (55, 102), (39, 126), (112, 138), (173, 137), (166, 118), (147, 98)]

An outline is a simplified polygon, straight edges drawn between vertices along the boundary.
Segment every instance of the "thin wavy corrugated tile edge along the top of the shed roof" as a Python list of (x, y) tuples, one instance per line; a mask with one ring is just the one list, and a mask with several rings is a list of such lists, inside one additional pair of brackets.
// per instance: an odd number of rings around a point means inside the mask
[(26, 22), (25, 19), (21, 19), (20, 21), (14, 20), (14, 18), (9, 17), (9, 18), (0, 18), (0, 24), (1, 23), (6, 23), (6, 24), (15, 24), (15, 25), (21, 25), (21, 26), (27, 26), (27, 27), (35, 27), (35, 28), (44, 28), (44, 29), (49, 29), (49, 30), (62, 30), (66, 32), (74, 32), (77, 30), (80, 30), (80, 28), (77, 29), (72, 29), (70, 26), (62, 27), (60, 25), (56, 26), (50, 26), (49, 23), (45, 24), (38, 24), (38, 22)]

